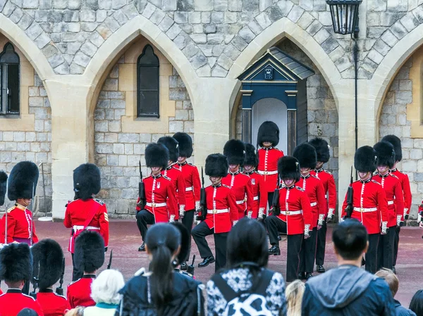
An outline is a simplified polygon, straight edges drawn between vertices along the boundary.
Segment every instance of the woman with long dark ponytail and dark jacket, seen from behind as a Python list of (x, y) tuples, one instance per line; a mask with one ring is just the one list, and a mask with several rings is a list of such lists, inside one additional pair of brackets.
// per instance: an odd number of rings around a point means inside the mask
[(148, 229), (145, 250), (151, 258), (150, 272), (136, 275), (119, 291), (123, 295), (119, 315), (204, 315), (204, 287), (173, 270), (180, 239), (180, 232), (171, 224)]

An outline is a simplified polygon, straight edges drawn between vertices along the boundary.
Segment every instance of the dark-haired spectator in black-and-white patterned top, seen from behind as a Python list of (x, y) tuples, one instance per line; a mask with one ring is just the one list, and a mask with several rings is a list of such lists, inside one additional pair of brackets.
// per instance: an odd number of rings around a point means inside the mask
[[(266, 269), (268, 258), (266, 230), (257, 220), (244, 217), (228, 236), (228, 269), (214, 274), (207, 283), (207, 315), (223, 315), (228, 303), (233, 308), (233, 298), (244, 293), (264, 297), (259, 308), (266, 308), (271, 315), (286, 315), (285, 282), (282, 274)], [(257, 301), (251, 303), (257, 306)], [(250, 314), (243, 315), (268, 315), (258, 314), (253, 304), (247, 309)]]

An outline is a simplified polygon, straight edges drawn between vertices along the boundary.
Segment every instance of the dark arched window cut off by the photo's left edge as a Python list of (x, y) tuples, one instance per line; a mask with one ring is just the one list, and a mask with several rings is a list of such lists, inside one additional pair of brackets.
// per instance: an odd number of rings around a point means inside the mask
[(0, 114), (19, 114), (19, 56), (7, 43), (0, 53)]

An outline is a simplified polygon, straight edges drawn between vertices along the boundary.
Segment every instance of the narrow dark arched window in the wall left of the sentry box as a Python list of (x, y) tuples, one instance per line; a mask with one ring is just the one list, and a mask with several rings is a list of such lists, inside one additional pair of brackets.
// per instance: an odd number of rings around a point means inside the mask
[(137, 61), (137, 117), (159, 118), (159, 58), (150, 45)]

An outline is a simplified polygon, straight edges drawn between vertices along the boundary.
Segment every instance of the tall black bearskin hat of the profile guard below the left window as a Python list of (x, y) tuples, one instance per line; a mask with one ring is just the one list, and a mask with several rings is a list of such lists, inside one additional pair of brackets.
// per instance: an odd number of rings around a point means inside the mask
[(21, 161), (13, 167), (8, 177), (7, 196), (11, 201), (33, 198), (38, 183), (38, 167), (31, 161)]

